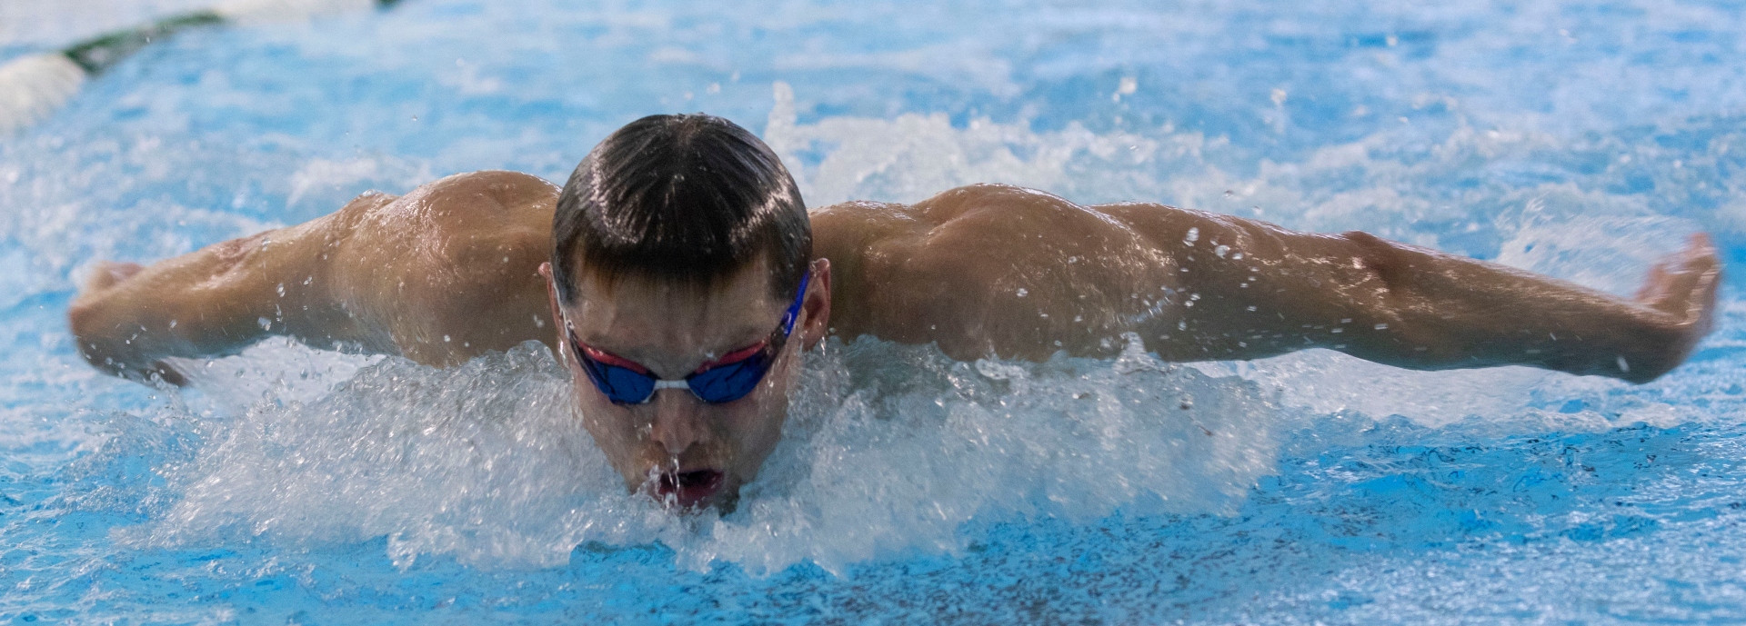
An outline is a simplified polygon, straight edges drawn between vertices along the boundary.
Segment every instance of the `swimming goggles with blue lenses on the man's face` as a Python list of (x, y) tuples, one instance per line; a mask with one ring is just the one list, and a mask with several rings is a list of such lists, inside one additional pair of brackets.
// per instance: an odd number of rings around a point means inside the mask
[(787, 312), (782, 314), (782, 323), (777, 330), (770, 331), (770, 338), (753, 344), (749, 347), (728, 352), (719, 359), (704, 363), (691, 371), (690, 377), (683, 380), (663, 380), (650, 373), (648, 368), (637, 364), (636, 361), (620, 357), (616, 354), (602, 352), (594, 347), (581, 344), (576, 338), (576, 330), (564, 323), (569, 333), (569, 349), (576, 356), (576, 363), (581, 364), (581, 371), (588, 373), (588, 380), (611, 399), (613, 405), (643, 405), (655, 398), (656, 391), (662, 389), (690, 389), (698, 399), (711, 405), (732, 403), (735, 399), (746, 398), (758, 384), (763, 382), (765, 373), (775, 364), (777, 354), (782, 350), (782, 344), (787, 342), (789, 333), (794, 331), (794, 319), (800, 317), (800, 303), (807, 298), (807, 282), (812, 279), (812, 272), (800, 277), (800, 291), (794, 293), (794, 303), (787, 305)]

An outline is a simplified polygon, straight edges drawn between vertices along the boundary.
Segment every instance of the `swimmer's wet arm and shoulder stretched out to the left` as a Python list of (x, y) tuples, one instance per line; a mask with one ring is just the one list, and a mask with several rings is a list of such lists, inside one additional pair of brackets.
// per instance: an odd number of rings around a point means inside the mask
[(236, 354), (288, 335), (314, 347), (459, 364), (550, 340), (545, 281), (557, 188), (515, 173), (365, 194), (295, 227), (150, 267), (101, 263), (68, 307), (79, 352), (129, 378), (164, 357)]

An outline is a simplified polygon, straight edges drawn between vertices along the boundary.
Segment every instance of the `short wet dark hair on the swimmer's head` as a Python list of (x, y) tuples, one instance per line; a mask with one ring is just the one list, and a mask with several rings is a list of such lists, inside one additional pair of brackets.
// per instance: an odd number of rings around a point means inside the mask
[(794, 178), (758, 136), (714, 115), (650, 115), (576, 166), (552, 216), (552, 277), (573, 303), (578, 262), (608, 284), (641, 276), (709, 288), (760, 255), (794, 295), (812, 223)]

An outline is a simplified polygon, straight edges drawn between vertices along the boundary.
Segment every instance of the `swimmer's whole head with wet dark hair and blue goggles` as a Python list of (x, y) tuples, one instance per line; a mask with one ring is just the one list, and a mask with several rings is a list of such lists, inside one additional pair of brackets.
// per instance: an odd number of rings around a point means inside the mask
[(732, 502), (829, 317), (829, 263), (775, 153), (719, 117), (630, 122), (564, 185), (541, 274), (583, 424), (625, 483)]

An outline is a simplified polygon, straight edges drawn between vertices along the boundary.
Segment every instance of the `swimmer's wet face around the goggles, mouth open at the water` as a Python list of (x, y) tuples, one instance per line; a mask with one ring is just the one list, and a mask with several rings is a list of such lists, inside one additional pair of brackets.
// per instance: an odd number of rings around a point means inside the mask
[[(779, 338), (777, 326), (793, 300), (770, 295), (761, 260), (712, 291), (639, 277), (606, 286), (578, 272), (571, 305), (552, 295), (559, 359), (574, 384), (581, 422), (623, 474), (625, 487), (686, 509), (739, 497), (740, 485), (758, 476), (780, 439), (801, 350), (824, 338), (829, 272), (828, 262), (814, 262), (793, 335), (770, 371), (749, 394), (721, 405), (705, 403), (690, 389), (656, 389), (648, 403), (615, 405), (588, 380), (569, 347), (564, 321), (588, 349), (632, 361), (658, 378), (681, 380), (705, 363)], [(540, 274), (550, 279), (550, 263)]]

